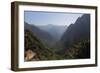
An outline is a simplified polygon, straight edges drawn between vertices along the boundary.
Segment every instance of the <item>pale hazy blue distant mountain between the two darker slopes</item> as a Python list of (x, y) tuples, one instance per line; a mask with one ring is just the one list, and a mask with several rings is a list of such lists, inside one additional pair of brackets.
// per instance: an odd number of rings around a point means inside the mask
[(54, 25), (54, 24), (40, 25), (37, 27), (48, 32), (57, 40), (59, 40), (61, 38), (61, 36), (65, 32), (65, 30), (67, 29), (67, 26), (65, 26), (65, 25)]

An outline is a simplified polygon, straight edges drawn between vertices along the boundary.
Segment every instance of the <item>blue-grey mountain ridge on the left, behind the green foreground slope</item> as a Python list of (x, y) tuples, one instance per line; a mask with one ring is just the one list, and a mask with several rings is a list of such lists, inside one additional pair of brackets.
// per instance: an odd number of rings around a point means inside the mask
[(39, 29), (35, 25), (24, 23), (24, 28), (31, 31), (38, 39), (40, 39), (43, 44), (47, 47), (51, 47), (55, 39), (46, 31)]

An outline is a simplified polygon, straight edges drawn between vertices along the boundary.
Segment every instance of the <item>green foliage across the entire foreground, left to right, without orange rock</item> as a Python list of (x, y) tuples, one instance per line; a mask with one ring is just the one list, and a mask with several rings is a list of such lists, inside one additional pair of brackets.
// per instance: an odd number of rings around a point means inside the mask
[(82, 40), (65, 50), (63, 55), (54, 51), (55, 48), (47, 48), (33, 33), (25, 30), (25, 50), (31, 49), (36, 53), (33, 60), (62, 60), (62, 59), (80, 59), (90, 57), (90, 41)]

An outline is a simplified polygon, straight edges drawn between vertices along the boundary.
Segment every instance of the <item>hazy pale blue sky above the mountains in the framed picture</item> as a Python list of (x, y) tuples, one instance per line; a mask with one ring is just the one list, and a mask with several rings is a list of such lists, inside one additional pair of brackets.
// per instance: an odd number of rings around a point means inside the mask
[(75, 23), (78, 17), (83, 14), (67, 13), (67, 12), (40, 12), (40, 11), (25, 11), (24, 20), (29, 24), (35, 25), (67, 25)]

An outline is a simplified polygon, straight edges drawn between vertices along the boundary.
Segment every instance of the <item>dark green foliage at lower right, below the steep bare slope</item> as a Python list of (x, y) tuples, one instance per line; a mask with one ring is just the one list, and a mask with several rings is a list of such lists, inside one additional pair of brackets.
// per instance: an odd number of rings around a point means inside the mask
[(83, 40), (74, 45), (65, 52), (64, 57), (67, 59), (90, 58), (90, 41)]

